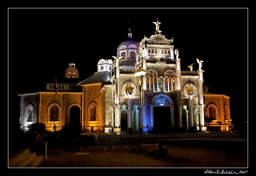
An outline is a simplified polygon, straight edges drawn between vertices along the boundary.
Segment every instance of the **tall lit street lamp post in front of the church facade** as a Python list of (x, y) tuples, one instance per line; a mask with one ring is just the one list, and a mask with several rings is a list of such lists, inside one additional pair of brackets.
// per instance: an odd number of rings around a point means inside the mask
[(145, 75), (145, 70), (140, 70), (134, 73), (134, 75), (137, 77), (138, 80), (138, 85), (139, 85), (139, 105), (140, 105), (140, 110), (139, 110), (139, 134), (140, 134), (140, 144), (143, 144), (142, 141), (142, 98), (141, 98), (141, 91), (142, 91), (142, 84), (143, 84), (143, 77)]

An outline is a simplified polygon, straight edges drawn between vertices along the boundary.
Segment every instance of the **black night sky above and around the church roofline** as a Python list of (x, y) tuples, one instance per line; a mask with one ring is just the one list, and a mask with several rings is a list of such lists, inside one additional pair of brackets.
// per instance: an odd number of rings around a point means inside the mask
[[(63, 77), (75, 63), (83, 80), (100, 59), (116, 56), (118, 45), (155, 34), (155, 24), (174, 38), (181, 69), (203, 60), (210, 92), (230, 96), (233, 123), (248, 118), (247, 8), (9, 8), (8, 116), (19, 118), (19, 96), (41, 91), (43, 82)], [(11, 107), (11, 108), (10, 108)]]

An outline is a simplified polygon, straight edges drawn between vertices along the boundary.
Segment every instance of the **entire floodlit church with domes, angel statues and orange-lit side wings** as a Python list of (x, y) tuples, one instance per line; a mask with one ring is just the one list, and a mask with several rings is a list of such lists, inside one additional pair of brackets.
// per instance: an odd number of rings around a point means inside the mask
[[(48, 132), (69, 126), (80, 132), (172, 133), (207, 131), (209, 126), (228, 131), (231, 125), (228, 96), (208, 92), (204, 86), (203, 61), (198, 70), (181, 70), (182, 59), (156, 25), (155, 34), (138, 42), (123, 41), (116, 56), (101, 59), (97, 72), (80, 80), (75, 64), (65, 78), (45, 83), (45, 92), (20, 94), (23, 130), (44, 123)], [(138, 76), (139, 74), (139, 76)], [(214, 128), (217, 129), (217, 128)]]

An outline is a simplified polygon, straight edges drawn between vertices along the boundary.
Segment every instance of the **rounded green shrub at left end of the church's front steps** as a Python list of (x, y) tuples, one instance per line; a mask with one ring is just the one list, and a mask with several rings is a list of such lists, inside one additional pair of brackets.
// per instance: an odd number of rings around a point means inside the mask
[(78, 146), (95, 146), (97, 145), (97, 134), (96, 133), (81, 133), (78, 136)]

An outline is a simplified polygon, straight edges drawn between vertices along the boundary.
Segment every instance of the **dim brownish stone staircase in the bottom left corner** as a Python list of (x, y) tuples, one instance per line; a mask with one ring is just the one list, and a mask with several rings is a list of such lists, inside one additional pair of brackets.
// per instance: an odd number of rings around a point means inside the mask
[(36, 167), (43, 160), (43, 155), (37, 155), (37, 152), (30, 152), (30, 149), (11, 149), (9, 150), (9, 168)]

